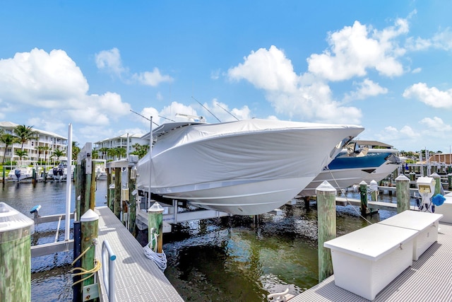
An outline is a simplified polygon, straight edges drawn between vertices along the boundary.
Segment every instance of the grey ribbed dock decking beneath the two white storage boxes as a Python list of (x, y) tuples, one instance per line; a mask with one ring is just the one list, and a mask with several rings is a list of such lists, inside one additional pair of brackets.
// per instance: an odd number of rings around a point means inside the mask
[[(451, 301), (452, 299), (452, 225), (439, 223), (438, 241), (411, 267), (388, 284), (374, 302)], [(334, 284), (334, 275), (290, 299), (290, 302), (364, 302)]]

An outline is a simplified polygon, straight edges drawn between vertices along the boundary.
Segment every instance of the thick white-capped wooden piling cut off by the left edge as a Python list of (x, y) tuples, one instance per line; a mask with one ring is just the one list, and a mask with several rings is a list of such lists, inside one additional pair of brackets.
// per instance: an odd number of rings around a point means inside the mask
[(0, 202), (0, 301), (31, 301), (32, 219)]

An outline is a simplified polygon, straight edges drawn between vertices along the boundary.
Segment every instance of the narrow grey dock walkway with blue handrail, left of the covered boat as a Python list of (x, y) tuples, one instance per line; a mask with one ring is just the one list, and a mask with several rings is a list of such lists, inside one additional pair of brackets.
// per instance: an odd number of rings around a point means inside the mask
[[(102, 259), (102, 242), (108, 240), (117, 256), (114, 260), (115, 301), (184, 301), (153, 260), (145, 257), (143, 247), (114, 216), (108, 207), (95, 208), (99, 214), (97, 259)], [(107, 263), (102, 263), (107, 266)], [(103, 283), (102, 269), (99, 282)], [(102, 301), (108, 301), (101, 284)]]

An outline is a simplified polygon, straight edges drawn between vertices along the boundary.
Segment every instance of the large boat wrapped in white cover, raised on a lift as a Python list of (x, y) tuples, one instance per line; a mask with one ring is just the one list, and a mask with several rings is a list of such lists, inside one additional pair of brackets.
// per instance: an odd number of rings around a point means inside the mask
[(137, 187), (230, 214), (266, 213), (295, 197), (363, 130), (258, 119), (162, 124), (152, 165), (149, 154), (138, 163)]

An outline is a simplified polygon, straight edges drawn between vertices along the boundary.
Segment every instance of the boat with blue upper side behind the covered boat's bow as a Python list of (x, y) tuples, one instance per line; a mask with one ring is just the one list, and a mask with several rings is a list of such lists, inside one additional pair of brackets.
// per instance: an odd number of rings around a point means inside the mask
[(355, 150), (352, 147), (341, 151), (302, 192), (299, 192), (299, 197), (314, 196), (316, 187), (325, 180), (338, 191), (357, 185), (363, 180), (367, 184), (371, 180), (379, 182), (400, 165), (396, 149)]

